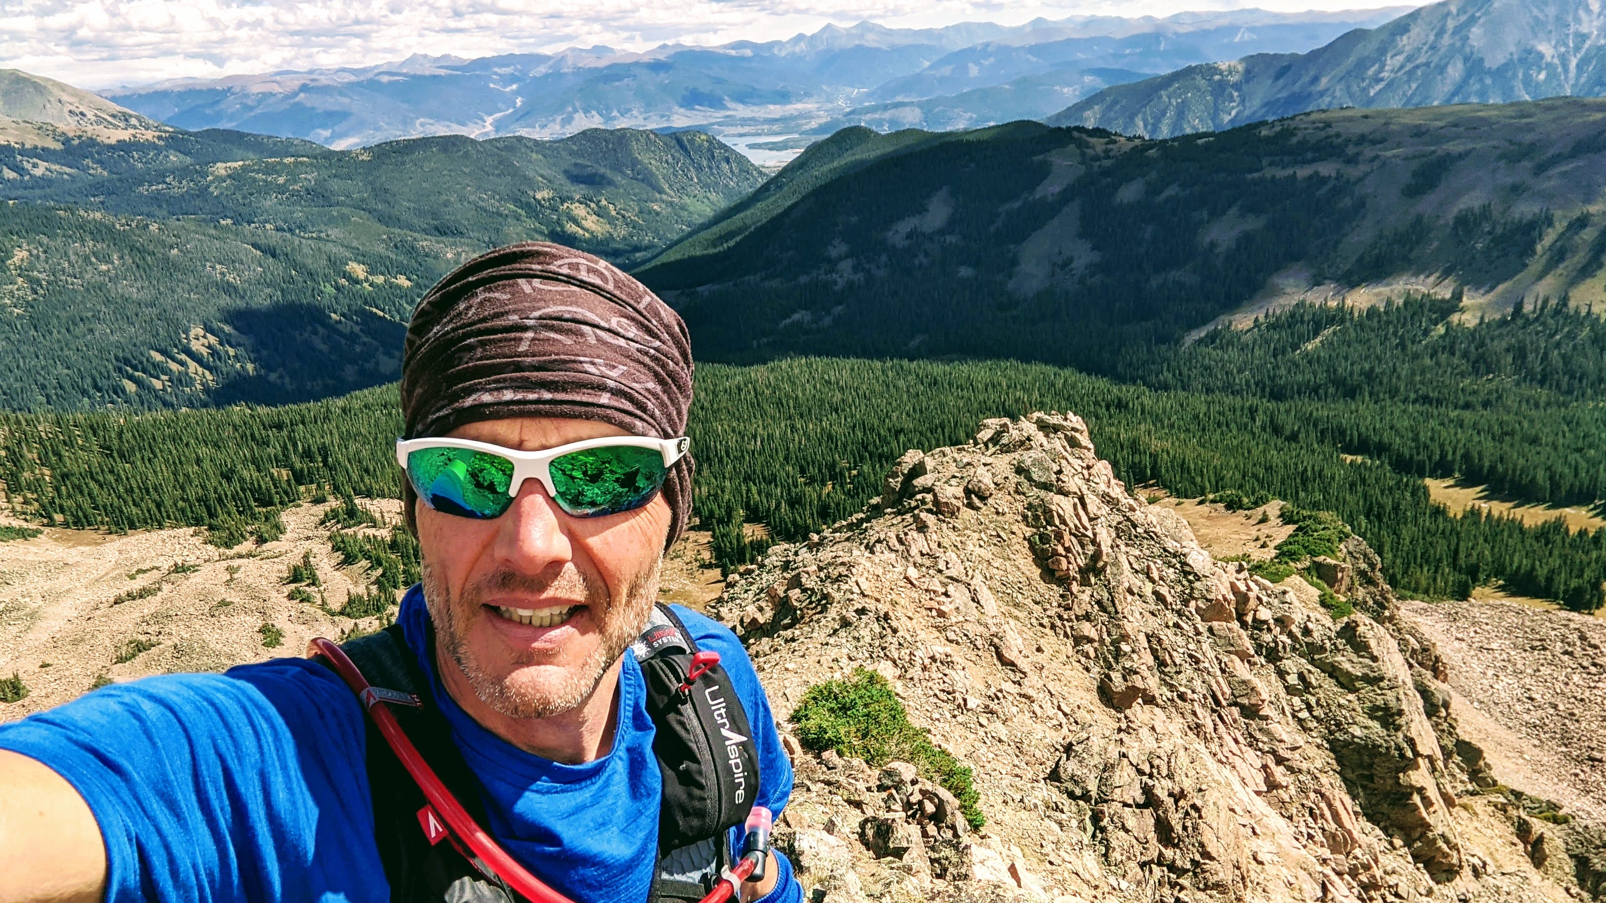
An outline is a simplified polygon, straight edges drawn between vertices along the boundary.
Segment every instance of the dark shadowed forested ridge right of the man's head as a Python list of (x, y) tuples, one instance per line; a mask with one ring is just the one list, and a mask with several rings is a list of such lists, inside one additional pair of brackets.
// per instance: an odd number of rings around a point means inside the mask
[(705, 360), (1015, 357), (1111, 374), (1227, 312), (1380, 283), (1465, 286), (1473, 310), (1588, 304), (1606, 300), (1590, 207), (1603, 125), (1606, 101), (1553, 100), (1169, 141), (1034, 124), (845, 133), (639, 275)]

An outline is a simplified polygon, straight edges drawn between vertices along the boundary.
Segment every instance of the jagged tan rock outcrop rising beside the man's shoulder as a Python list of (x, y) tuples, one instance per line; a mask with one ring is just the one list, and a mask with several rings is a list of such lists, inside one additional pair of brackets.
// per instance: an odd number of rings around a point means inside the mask
[(1079, 418), (994, 419), (904, 455), (869, 509), (732, 577), (710, 611), (745, 636), (782, 729), (808, 686), (880, 672), (975, 771), (988, 818), (972, 831), (909, 765), (787, 738), (777, 839), (814, 900), (1585, 893), (1478, 795), (1444, 665), (1394, 619), (1363, 543), (1333, 562), (1357, 611), (1335, 622), (1161, 511)]

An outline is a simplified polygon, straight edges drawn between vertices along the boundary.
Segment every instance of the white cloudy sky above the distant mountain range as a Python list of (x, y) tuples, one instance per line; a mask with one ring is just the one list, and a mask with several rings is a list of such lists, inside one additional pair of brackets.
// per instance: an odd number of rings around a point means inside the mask
[[(1400, 0), (0, 0), (0, 66), (87, 88), (609, 45), (772, 40), (827, 22), (1018, 24), (1086, 13), (1299, 11)], [(1410, 0), (1405, 0), (1410, 2)]]

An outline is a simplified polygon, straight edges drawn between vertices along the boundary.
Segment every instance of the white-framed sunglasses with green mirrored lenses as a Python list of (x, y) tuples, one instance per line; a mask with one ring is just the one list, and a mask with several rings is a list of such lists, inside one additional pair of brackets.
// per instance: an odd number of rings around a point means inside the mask
[(501, 517), (527, 479), (573, 517), (602, 517), (652, 501), (691, 439), (607, 435), (540, 452), (472, 439), (398, 439), (397, 463), (424, 505), (459, 517)]

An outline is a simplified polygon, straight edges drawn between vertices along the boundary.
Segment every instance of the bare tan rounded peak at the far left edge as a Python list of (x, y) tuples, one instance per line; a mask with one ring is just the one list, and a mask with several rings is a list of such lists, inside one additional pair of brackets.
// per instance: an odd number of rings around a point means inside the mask
[(0, 69), (0, 141), (59, 145), (71, 137), (116, 141), (165, 132), (172, 129), (72, 85)]

